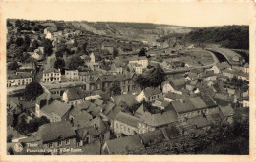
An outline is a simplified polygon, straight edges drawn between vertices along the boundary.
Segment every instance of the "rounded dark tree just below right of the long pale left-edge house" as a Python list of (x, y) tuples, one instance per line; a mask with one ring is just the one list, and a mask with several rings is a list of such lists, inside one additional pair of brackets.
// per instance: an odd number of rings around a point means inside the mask
[(32, 81), (25, 87), (24, 97), (27, 101), (35, 100), (42, 93), (42, 86), (38, 82)]

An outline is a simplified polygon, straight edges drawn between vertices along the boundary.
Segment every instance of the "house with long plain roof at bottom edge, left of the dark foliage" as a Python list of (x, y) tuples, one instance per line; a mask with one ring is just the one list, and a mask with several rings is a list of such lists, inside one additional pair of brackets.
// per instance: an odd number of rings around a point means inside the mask
[(103, 154), (125, 154), (129, 151), (145, 150), (139, 135), (120, 137), (107, 140), (102, 146)]

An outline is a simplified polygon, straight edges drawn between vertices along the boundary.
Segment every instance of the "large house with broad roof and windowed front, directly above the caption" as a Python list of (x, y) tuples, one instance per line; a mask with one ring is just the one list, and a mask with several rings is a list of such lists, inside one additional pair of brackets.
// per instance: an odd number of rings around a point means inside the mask
[(62, 154), (63, 149), (76, 149), (78, 146), (77, 135), (68, 121), (44, 124), (38, 133), (43, 149), (57, 150), (52, 154)]

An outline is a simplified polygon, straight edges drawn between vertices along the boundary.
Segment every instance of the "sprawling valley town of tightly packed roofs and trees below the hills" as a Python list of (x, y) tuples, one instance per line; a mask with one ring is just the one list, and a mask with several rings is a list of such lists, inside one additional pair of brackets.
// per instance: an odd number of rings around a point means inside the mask
[(10, 155), (248, 154), (248, 49), (85, 26), (7, 20)]

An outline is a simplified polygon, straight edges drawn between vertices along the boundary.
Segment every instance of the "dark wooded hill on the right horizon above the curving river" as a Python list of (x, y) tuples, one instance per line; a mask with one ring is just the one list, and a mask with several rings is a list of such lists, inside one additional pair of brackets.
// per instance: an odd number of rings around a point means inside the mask
[(249, 49), (249, 27), (205, 27), (189, 32), (186, 39), (199, 44), (216, 43), (225, 48)]

